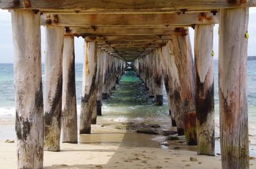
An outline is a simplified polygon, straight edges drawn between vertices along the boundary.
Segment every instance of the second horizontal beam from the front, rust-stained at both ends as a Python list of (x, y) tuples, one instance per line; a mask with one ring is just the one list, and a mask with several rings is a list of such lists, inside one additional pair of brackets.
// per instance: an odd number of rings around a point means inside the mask
[(216, 24), (218, 15), (212, 13), (142, 13), (142, 14), (44, 14), (43, 26), (193, 26)]

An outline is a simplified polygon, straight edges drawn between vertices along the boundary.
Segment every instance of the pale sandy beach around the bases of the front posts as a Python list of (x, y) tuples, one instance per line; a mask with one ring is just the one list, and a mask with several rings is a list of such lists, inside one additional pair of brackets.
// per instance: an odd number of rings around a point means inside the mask
[[(130, 133), (94, 125), (79, 144), (61, 143), (60, 152), (44, 152), (44, 168), (221, 168), (220, 156), (197, 156), (196, 147), (168, 142), (164, 136)], [(1, 168), (17, 168), (15, 143), (0, 142)], [(173, 149), (175, 148), (175, 149)], [(256, 168), (256, 160), (250, 160)]]

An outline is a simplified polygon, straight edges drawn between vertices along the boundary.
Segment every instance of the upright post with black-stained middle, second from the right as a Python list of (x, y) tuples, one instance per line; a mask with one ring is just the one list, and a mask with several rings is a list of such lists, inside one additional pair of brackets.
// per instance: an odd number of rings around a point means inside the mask
[(197, 154), (214, 156), (213, 25), (195, 27)]

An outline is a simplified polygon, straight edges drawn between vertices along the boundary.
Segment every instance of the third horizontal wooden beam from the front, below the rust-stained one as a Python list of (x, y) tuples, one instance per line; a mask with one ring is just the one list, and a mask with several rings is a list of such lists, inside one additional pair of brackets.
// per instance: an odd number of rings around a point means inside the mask
[(188, 34), (184, 27), (67, 27), (65, 34), (74, 36), (103, 36), (103, 35), (182, 35)]

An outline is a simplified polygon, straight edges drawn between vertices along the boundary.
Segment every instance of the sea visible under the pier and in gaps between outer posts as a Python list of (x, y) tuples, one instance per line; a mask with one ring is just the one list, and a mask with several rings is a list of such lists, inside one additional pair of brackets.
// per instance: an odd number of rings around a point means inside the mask
[[(77, 114), (80, 113), (82, 92), (83, 64), (76, 64), (76, 96)], [(42, 79), (44, 86), (44, 64), (42, 64)], [(248, 116), (250, 153), (256, 156), (256, 61), (248, 61)], [(122, 84), (122, 85), (121, 85)], [(111, 122), (158, 122), (161, 126), (171, 126), (168, 115), (168, 100), (164, 89), (164, 105), (157, 107), (154, 99), (148, 98), (148, 91), (134, 72), (126, 72), (116, 86), (111, 98), (103, 102), (102, 117)], [(214, 61), (214, 102), (216, 137), (220, 135), (218, 97), (218, 61)], [(13, 87), (13, 64), (0, 64), (0, 139), (15, 137), (15, 92)], [(1, 129), (2, 128), (2, 129)], [(12, 128), (4, 133), (3, 128)], [(14, 139), (14, 138), (13, 138)], [(217, 143), (218, 144), (218, 143)]]

